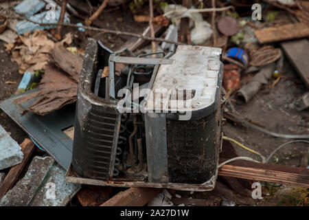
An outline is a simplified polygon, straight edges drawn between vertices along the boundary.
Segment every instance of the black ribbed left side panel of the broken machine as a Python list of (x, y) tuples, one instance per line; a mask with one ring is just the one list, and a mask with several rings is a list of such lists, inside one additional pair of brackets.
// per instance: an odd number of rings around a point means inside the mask
[(110, 179), (114, 174), (121, 113), (117, 100), (93, 93), (95, 74), (106, 67), (110, 57), (111, 50), (89, 39), (78, 83), (72, 153), (73, 170), (82, 177)]

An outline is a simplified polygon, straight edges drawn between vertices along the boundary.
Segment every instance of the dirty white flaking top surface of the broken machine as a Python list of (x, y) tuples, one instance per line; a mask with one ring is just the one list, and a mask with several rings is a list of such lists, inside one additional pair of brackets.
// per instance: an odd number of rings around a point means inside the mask
[[(220, 72), (221, 49), (192, 45), (179, 45), (171, 57), (174, 65), (161, 65), (152, 86), (152, 107), (146, 109), (160, 111), (194, 111), (209, 107), (215, 101)], [(189, 102), (176, 108), (170, 103), (174, 100), (173, 91), (186, 94), (193, 91)], [(161, 96), (161, 99), (158, 97)], [(177, 98), (177, 102), (182, 100)], [(187, 100), (188, 101), (188, 100)], [(168, 103), (168, 104), (167, 104)], [(190, 104), (187, 104), (190, 103)]]

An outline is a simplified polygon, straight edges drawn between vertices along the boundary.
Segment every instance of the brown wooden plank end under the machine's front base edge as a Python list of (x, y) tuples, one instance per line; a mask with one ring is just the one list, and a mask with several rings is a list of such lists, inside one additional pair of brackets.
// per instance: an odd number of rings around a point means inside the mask
[(101, 206), (145, 206), (160, 191), (157, 188), (129, 188), (108, 199)]

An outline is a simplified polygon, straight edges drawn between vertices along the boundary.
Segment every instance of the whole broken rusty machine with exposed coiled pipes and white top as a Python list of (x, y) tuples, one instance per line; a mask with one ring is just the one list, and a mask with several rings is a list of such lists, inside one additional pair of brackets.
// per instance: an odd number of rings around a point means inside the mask
[(222, 136), (220, 54), (172, 45), (167, 54), (135, 57), (89, 39), (67, 181), (213, 189)]

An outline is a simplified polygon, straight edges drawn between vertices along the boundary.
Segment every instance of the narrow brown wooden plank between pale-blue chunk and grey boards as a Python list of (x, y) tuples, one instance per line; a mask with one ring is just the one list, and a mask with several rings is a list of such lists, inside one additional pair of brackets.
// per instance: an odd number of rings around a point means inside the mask
[(23, 162), (16, 166), (13, 166), (8, 175), (6, 175), (3, 183), (0, 186), (0, 199), (5, 195), (12, 186), (14, 186), (16, 180), (18, 179), (21, 171), (27, 164), (28, 160), (30, 159), (32, 153), (34, 152), (34, 144), (29, 138), (26, 138), (23, 143), (21, 143), (21, 151), (23, 151)]

